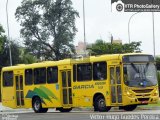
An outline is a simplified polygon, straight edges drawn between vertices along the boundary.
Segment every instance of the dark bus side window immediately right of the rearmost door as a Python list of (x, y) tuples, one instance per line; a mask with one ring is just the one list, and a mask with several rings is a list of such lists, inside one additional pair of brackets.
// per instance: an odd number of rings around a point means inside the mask
[(25, 70), (25, 84), (26, 85), (32, 85), (33, 84), (32, 69), (26, 69)]

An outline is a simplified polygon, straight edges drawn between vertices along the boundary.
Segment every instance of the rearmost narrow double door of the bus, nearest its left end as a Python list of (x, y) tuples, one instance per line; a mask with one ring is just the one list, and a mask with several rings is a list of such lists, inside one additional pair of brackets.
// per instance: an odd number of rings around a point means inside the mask
[(14, 75), (16, 84), (16, 105), (17, 107), (24, 106), (24, 93), (23, 93), (23, 75)]

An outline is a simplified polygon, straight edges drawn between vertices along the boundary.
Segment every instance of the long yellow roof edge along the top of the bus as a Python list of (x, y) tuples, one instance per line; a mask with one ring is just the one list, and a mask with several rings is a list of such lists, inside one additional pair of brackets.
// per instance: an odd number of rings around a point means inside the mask
[(63, 59), (59, 61), (42, 61), (38, 63), (32, 64), (17, 64), (15, 66), (3, 67), (2, 71), (16, 70), (16, 69), (28, 69), (28, 68), (40, 68), (47, 66), (59, 66), (59, 65), (68, 65), (68, 64), (76, 64), (76, 63), (86, 63), (86, 62), (95, 62), (95, 61), (106, 61), (106, 60), (116, 60), (122, 59), (125, 55), (150, 55), (144, 53), (126, 53), (126, 54), (105, 54), (105, 55), (97, 55), (97, 56), (89, 56), (79, 59)]

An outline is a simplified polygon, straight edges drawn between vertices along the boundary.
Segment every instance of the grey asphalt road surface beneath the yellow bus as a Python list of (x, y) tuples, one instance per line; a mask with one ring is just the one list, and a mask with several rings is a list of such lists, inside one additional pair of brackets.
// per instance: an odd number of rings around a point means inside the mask
[[(6, 119), (8, 118), (8, 119)], [(47, 113), (30, 111), (3, 112), (0, 120), (160, 120), (160, 110), (111, 110), (110, 112), (72, 111), (60, 113), (50, 110)]]

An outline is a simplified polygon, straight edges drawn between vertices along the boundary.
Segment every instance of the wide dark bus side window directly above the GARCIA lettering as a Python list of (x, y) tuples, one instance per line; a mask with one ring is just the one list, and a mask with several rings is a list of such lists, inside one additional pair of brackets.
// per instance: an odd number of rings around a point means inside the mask
[(92, 80), (92, 64), (78, 64), (77, 65), (77, 81)]

